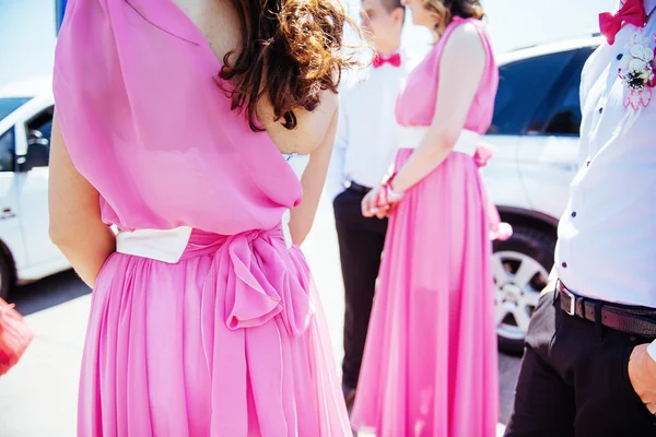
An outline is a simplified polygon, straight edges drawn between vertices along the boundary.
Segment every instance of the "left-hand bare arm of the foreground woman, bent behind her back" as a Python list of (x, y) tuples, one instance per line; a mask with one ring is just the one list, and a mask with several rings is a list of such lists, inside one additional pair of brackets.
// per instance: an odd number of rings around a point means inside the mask
[(116, 249), (114, 233), (101, 220), (98, 199), (98, 192), (73, 166), (55, 116), (48, 184), (50, 239), (91, 287)]

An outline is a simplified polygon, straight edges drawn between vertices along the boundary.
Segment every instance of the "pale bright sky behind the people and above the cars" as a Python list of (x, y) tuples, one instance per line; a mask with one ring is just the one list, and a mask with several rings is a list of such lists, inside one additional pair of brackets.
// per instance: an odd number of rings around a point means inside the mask
[[(169, 0), (162, 0), (169, 1)], [(360, 0), (344, 0), (358, 16)], [(617, 0), (483, 0), (497, 52), (585, 36), (598, 31), (597, 14)], [(408, 17), (411, 19), (410, 16)], [(408, 23), (403, 46), (414, 55), (430, 49), (426, 31)], [(54, 0), (0, 0), (0, 86), (52, 70)]]

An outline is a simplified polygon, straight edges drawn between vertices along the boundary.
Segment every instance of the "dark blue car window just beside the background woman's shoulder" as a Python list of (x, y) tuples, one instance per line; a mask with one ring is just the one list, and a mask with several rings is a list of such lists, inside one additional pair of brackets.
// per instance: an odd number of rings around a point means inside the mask
[(494, 117), (488, 133), (523, 134), (541, 126), (528, 126), (544, 97), (576, 51), (523, 59), (500, 68)]

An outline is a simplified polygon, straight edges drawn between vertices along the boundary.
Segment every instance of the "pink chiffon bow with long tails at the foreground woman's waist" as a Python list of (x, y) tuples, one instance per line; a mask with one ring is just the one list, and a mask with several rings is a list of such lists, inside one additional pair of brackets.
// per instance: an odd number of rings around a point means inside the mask
[[(284, 410), (286, 385), (265, 378), (290, 377), (285, 363), (298, 356), (285, 356), (290, 349), (281, 343), (303, 341), (300, 339), (315, 314), (309, 296), (312, 280), (303, 273), (307, 265), (301, 250), (288, 249), (280, 227), (232, 236), (195, 232), (184, 257), (200, 253), (214, 253), (202, 287), (199, 320), (208, 373), (212, 375), (211, 435), (246, 436), (244, 405), (249, 387), (265, 387), (266, 394), (259, 395), (266, 395), (274, 411)], [(285, 329), (290, 339), (281, 336), (280, 329)], [(233, 356), (226, 351), (245, 354)], [(285, 420), (282, 415), (267, 417), (259, 423), (262, 435), (288, 436)]]

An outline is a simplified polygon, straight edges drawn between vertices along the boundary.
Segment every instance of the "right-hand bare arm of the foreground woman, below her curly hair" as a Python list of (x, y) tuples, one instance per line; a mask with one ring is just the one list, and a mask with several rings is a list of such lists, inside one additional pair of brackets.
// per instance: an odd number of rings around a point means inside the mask
[(290, 232), (292, 241), (295, 245), (301, 245), (305, 240), (314, 223), (326, 181), (326, 174), (328, 173), (338, 117), (339, 109), (335, 109), (326, 135), (319, 146), (309, 155), (309, 164), (307, 164), (307, 168), (301, 178), (303, 201), (292, 210), (290, 220)]

